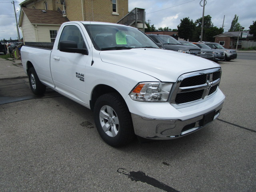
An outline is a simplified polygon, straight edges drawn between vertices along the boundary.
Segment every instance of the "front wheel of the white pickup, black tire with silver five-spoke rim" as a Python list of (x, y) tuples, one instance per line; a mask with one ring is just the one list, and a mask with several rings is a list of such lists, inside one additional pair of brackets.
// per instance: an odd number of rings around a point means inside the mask
[(121, 147), (135, 138), (131, 114), (118, 93), (107, 93), (96, 100), (94, 120), (101, 138), (110, 146)]

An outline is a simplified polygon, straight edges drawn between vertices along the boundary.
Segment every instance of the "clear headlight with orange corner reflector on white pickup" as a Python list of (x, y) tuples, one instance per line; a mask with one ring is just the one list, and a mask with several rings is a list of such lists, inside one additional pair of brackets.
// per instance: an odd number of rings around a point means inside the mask
[(135, 101), (166, 102), (172, 89), (172, 83), (143, 82), (136, 85), (129, 94)]

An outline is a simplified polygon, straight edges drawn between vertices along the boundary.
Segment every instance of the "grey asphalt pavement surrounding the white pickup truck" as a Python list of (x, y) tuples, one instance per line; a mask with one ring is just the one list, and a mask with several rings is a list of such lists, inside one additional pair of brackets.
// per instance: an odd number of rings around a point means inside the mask
[(226, 100), (212, 124), (123, 148), (102, 141), (84, 106), (0, 80), (0, 191), (256, 191), (256, 53), (245, 55), (219, 62)]

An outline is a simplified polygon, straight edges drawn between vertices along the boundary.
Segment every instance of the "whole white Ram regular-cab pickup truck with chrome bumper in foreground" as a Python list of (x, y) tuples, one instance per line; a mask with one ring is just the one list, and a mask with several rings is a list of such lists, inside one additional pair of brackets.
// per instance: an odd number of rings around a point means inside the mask
[(52, 49), (22, 46), (34, 94), (46, 86), (90, 108), (102, 139), (166, 140), (215, 120), (225, 99), (215, 62), (163, 50), (142, 31), (119, 24), (66, 22)]

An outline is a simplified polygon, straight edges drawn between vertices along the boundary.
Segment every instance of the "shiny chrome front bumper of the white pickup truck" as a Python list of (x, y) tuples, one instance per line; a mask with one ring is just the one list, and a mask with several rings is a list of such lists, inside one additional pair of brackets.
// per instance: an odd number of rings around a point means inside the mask
[[(222, 106), (223, 103), (216, 107), (213, 110), (214, 112), (212, 111), (214, 113), (213, 120), (220, 115)], [(183, 121), (178, 119), (152, 119), (132, 114), (132, 121), (136, 135), (154, 140), (168, 140), (185, 136), (208, 125), (212, 120), (208, 120), (206, 123), (203, 122), (206, 114)]]

